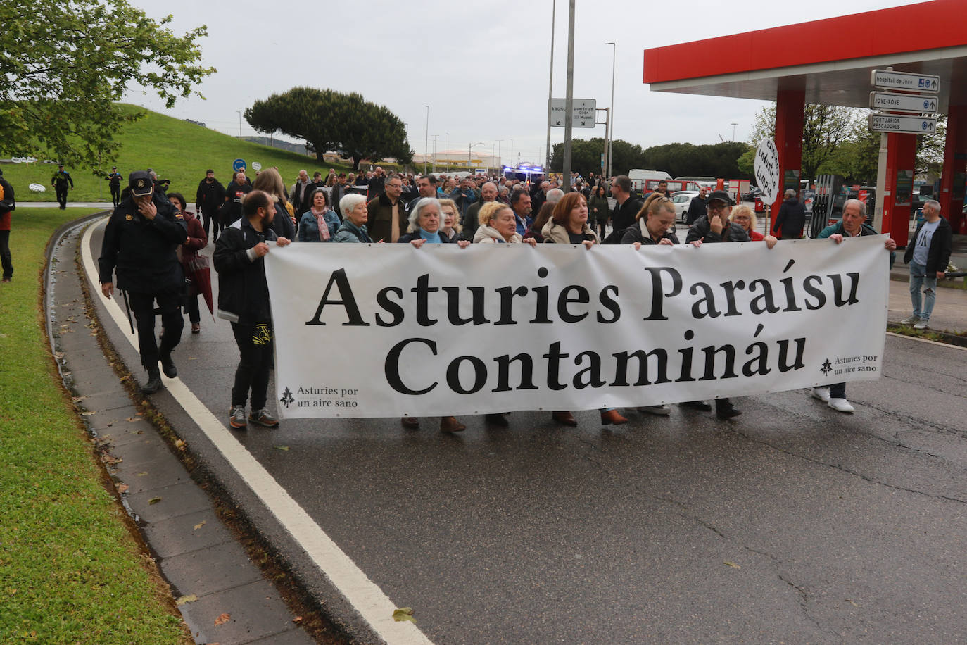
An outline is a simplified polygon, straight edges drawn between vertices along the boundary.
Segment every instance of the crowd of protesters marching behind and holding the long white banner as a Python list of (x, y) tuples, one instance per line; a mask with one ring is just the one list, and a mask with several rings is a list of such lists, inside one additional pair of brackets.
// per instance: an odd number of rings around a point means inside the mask
[[(155, 190), (163, 195), (167, 187), (156, 175), (152, 174), (152, 179)], [(240, 170), (222, 188), (214, 171), (208, 170), (195, 195), (200, 221), (187, 216), (190, 226), (182, 243), (185, 251), (180, 253), (183, 256), (196, 253), (209, 239), (216, 247), (214, 264), (220, 278), (220, 314), (231, 320), (241, 356), (232, 389), (230, 425), (242, 428), (247, 421), (269, 427), (278, 425), (266, 407), (265, 389), (272, 355), (269, 309), (249, 311), (250, 304), (238, 297), (240, 292), (267, 294), (261, 258), (269, 252), (270, 241), (280, 246), (294, 241), (402, 243), (417, 249), (425, 244), (455, 244), (460, 248), (471, 244), (565, 244), (571, 245), (574, 252), (598, 244), (624, 244), (635, 249), (680, 244), (675, 233), (675, 209), (666, 185), (659, 185), (657, 191), (642, 199), (632, 191), (630, 178), (625, 175), (612, 178), (591, 175), (584, 179), (573, 173), (568, 184), (566, 192), (555, 175), (527, 183), (479, 173), (413, 175), (376, 167), (372, 171), (348, 174), (330, 169), (325, 177), (316, 171), (311, 179), (307, 170), (301, 170), (296, 181), (286, 186), (278, 169), (266, 168), (257, 173), (254, 181), (245, 170)], [(176, 213), (186, 210), (185, 198), (180, 193), (168, 196), (177, 204)], [(124, 197), (122, 194), (122, 200)], [(689, 208), (686, 244), (700, 247), (708, 243), (762, 241), (769, 249), (776, 245), (776, 237), (756, 230), (755, 213), (751, 209), (733, 208), (734, 202), (727, 191), (703, 190), (697, 202), (697, 206), (692, 204), (695, 209)], [(177, 218), (182, 221), (182, 216)], [(228, 231), (234, 232), (228, 234)], [(783, 237), (790, 235), (786, 232)], [(892, 243), (893, 240), (887, 241), (888, 249)], [(240, 286), (248, 281), (258, 283), (253, 291)], [(192, 333), (199, 333), (197, 304), (189, 302), (185, 308)], [(234, 309), (243, 309), (243, 313)], [(170, 350), (165, 351), (170, 361)], [(157, 389), (158, 383), (153, 385)], [(249, 392), (252, 413), (247, 418), (245, 407)], [(813, 394), (824, 401), (832, 398), (834, 402), (830, 405), (838, 411), (851, 412), (853, 408), (845, 401), (843, 392), (835, 390), (833, 396), (825, 397)], [(688, 401), (682, 405), (705, 411), (713, 408), (707, 401)], [(640, 407), (638, 411), (664, 416), (670, 409), (666, 405), (655, 405)], [(715, 411), (722, 420), (741, 414), (728, 398), (717, 399)], [(576, 425), (569, 411), (555, 411), (552, 419), (561, 425)], [(506, 416), (501, 414), (488, 414), (485, 421), (489, 425), (508, 425)], [(628, 421), (613, 408), (601, 410), (602, 425)], [(404, 416), (402, 424), (416, 428), (420, 420), (416, 416)], [(456, 432), (465, 425), (453, 416), (445, 416), (440, 419), (440, 428)]]

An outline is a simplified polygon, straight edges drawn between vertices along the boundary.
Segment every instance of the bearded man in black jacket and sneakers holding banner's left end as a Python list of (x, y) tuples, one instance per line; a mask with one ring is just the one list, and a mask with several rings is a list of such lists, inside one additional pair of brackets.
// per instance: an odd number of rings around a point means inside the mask
[(272, 229), (276, 208), (268, 193), (249, 192), (242, 203), (242, 215), (241, 220), (222, 232), (214, 257), (215, 270), (219, 272), (219, 317), (231, 322), (240, 354), (228, 423), (237, 429), (247, 426), (245, 406), (250, 390), (248, 421), (278, 427), (278, 419), (266, 407), (273, 330), (262, 258), (269, 252), (268, 242), (276, 240), (279, 247), (284, 247), (290, 241), (277, 237)]

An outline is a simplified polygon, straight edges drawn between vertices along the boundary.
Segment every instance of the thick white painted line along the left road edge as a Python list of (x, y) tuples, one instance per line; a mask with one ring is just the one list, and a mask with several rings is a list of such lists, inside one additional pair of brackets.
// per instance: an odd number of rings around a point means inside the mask
[[(97, 220), (88, 225), (81, 240), (81, 253), (88, 280), (98, 277), (98, 267), (90, 247), (94, 228), (102, 221)], [(94, 287), (93, 292), (101, 294), (101, 284), (93, 280), (91, 283)], [(123, 336), (131, 341), (136, 350), (136, 336), (128, 335), (128, 318), (117, 299), (107, 300), (103, 295), (101, 298), (115, 324), (125, 330)], [(349, 556), (342, 552), (337, 543), (326, 535), (315, 520), (262, 467), (262, 464), (232, 436), (220, 420), (198, 400), (198, 397), (191, 393), (181, 379), (165, 377), (164, 384), (171, 396), (174, 396), (194, 423), (215, 444), (242, 481), (249, 485), (251, 491), (268, 507), (269, 512), (276, 516), (278, 522), (306, 551), (319, 571), (326, 575), (346, 600), (359, 611), (372, 630), (391, 645), (431, 642), (413, 623), (408, 621), (397, 623), (393, 620), (396, 605)]]

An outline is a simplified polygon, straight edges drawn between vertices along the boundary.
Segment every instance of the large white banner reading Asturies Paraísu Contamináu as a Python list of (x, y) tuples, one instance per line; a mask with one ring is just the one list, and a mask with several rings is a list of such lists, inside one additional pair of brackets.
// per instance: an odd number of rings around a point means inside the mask
[(875, 379), (884, 240), (273, 246), (278, 411), (580, 410)]

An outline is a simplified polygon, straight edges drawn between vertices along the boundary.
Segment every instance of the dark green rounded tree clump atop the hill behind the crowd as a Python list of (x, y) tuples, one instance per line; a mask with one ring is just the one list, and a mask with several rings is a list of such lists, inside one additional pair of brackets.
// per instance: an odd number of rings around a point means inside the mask
[(413, 161), (406, 124), (388, 108), (369, 103), (355, 92), (294, 87), (256, 101), (246, 109), (245, 118), (258, 132), (278, 131), (306, 139), (319, 157), (327, 150), (352, 157), (354, 170), (364, 159)]

